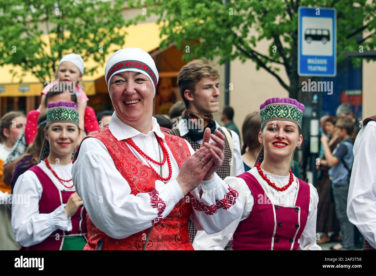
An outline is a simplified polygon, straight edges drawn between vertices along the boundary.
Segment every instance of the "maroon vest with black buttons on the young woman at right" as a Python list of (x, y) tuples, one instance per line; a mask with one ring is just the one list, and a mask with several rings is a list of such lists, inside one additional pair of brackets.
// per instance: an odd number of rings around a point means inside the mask
[[(253, 196), (249, 217), (242, 220), (233, 234), (233, 250), (296, 250), (309, 210), (309, 185), (300, 180), (294, 206), (271, 204), (258, 180), (249, 172), (243, 178)], [(261, 200), (260, 201), (260, 196)]]

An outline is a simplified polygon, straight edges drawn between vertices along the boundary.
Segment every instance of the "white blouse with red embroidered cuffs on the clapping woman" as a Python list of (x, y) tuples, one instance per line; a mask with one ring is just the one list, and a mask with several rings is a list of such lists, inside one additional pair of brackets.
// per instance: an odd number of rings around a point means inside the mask
[[(159, 145), (154, 135), (161, 137), (168, 148), (164, 134), (156, 119), (152, 118), (152, 130), (143, 134), (121, 121), (116, 113), (112, 115), (109, 130), (117, 140), (132, 138), (133, 142), (149, 157), (159, 160)], [(186, 141), (185, 141), (186, 142)], [(191, 154), (191, 145), (186, 142)], [(157, 172), (160, 166), (146, 160), (129, 146), (135, 156), (147, 166), (151, 165)], [(85, 139), (80, 147), (77, 160), (72, 167), (73, 182), (82, 198), (90, 219), (101, 231), (112, 238), (121, 239), (150, 228), (152, 224), (166, 217), (177, 202), (184, 198), (178, 182), (179, 166), (171, 158), (172, 176), (165, 184), (155, 181), (155, 191), (132, 195), (126, 179), (118, 172), (105, 145), (96, 138)], [(167, 162), (162, 166), (162, 176), (168, 175)], [(202, 195), (200, 196), (200, 191)], [(191, 219), (199, 230), (208, 234), (224, 229), (243, 213), (238, 192), (222, 179), (214, 175), (209, 181), (203, 181), (191, 191), (189, 199), (193, 205)], [(164, 204), (155, 204), (154, 199)], [(186, 199), (188, 201), (188, 198)], [(163, 206), (163, 208), (158, 208)]]

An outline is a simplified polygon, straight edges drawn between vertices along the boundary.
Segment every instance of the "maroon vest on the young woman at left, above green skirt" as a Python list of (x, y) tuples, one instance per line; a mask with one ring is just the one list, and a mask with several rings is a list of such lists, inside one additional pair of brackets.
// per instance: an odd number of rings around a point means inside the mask
[[(39, 200), (40, 214), (52, 213), (60, 205), (66, 204), (70, 195), (74, 193), (74, 191), (59, 190), (49, 176), (40, 167), (33, 166), (29, 170), (35, 173), (43, 187), (42, 196)], [(78, 207), (76, 214), (71, 217), (71, 222), (71, 231), (67, 232), (57, 229), (41, 243), (29, 247), (21, 247), (21, 250), (61, 250), (65, 237), (83, 235), (86, 238), (87, 230), (85, 207)]]

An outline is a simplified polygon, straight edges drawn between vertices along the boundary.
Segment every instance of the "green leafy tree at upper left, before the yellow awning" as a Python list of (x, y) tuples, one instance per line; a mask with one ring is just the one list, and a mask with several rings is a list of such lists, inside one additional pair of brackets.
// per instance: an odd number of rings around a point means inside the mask
[[(104, 62), (111, 44), (123, 45), (124, 1), (0, 0), (0, 65), (20, 65), (22, 78), (32, 72), (50, 80), (68, 53)], [(44, 36), (43, 36), (44, 35)], [(85, 68), (92, 74), (98, 66)]]

